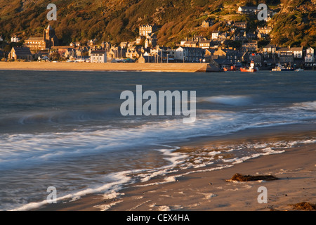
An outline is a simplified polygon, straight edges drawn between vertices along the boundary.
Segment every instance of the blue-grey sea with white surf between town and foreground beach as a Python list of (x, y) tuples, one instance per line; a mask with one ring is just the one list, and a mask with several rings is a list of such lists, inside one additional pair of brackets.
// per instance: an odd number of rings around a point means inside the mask
[[(122, 116), (122, 91), (196, 91), (196, 120)], [(58, 72), (0, 70), (0, 210), (31, 210), (117, 193), (173, 172), (221, 169), (315, 137), (179, 152), (177, 143), (251, 128), (316, 122), (316, 72)], [(232, 154), (235, 153), (235, 154)], [(235, 156), (231, 156), (235, 155)], [(192, 172), (192, 170), (191, 170)], [(169, 176), (170, 175), (170, 176)], [(161, 181), (160, 181), (161, 182)]]

